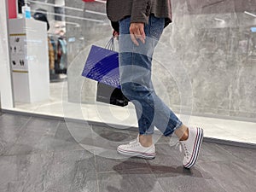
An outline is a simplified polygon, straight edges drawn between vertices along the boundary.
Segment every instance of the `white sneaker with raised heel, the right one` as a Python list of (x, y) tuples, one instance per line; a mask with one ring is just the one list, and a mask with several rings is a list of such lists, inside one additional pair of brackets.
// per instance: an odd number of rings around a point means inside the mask
[(180, 141), (184, 153), (183, 166), (185, 168), (189, 169), (195, 165), (201, 148), (202, 139), (203, 129), (199, 127), (189, 127), (188, 139)]

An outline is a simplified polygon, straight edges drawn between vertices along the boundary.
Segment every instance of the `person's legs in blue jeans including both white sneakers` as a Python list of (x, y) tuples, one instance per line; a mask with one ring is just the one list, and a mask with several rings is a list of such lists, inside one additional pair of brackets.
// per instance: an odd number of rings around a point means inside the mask
[(203, 130), (199, 127), (188, 128), (177, 119), (177, 116), (160, 97), (155, 94), (151, 81), (151, 65), (154, 48), (164, 28), (164, 19), (150, 16), (145, 25), (145, 44), (136, 46), (130, 38), (130, 18), (121, 20), (119, 36), (119, 68), (121, 88), (124, 95), (135, 105), (140, 137), (136, 142), (120, 145), (120, 154), (136, 155), (152, 159), (155, 148), (152, 134), (156, 126), (165, 136), (173, 132), (180, 138), (183, 147), (183, 166), (190, 168), (197, 160)]

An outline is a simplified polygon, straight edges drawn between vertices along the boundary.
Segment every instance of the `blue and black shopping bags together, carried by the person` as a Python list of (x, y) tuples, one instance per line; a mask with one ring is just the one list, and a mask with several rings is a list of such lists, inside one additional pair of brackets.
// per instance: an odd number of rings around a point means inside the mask
[(111, 38), (106, 48), (92, 45), (82, 75), (98, 82), (96, 101), (125, 107), (129, 100), (120, 90), (119, 54)]

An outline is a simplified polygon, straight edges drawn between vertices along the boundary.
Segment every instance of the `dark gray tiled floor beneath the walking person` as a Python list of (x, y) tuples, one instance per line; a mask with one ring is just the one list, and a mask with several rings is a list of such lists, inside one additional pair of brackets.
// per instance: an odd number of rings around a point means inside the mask
[(186, 170), (166, 137), (156, 144), (154, 160), (116, 154), (119, 143), (136, 136), (131, 130), (3, 113), (0, 192), (256, 191), (255, 149), (203, 143), (197, 165)]

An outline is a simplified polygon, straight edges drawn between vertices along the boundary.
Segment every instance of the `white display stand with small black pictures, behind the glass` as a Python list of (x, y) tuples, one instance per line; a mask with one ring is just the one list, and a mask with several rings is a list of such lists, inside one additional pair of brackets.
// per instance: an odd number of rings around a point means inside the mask
[(15, 102), (49, 99), (49, 52), (46, 23), (9, 20), (9, 40)]

